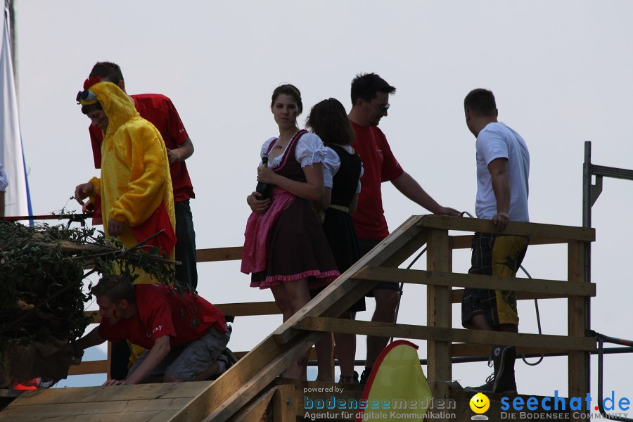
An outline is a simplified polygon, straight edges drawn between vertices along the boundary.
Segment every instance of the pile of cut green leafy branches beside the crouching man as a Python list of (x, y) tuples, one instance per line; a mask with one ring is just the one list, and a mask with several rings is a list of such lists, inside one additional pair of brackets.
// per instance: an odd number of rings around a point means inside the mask
[(158, 248), (123, 248), (103, 232), (84, 227), (24, 226), (0, 220), (0, 362), (10, 343), (75, 339), (90, 322), (82, 292), (94, 272), (109, 274), (117, 264), (133, 279), (134, 268), (182, 290), (173, 264)]

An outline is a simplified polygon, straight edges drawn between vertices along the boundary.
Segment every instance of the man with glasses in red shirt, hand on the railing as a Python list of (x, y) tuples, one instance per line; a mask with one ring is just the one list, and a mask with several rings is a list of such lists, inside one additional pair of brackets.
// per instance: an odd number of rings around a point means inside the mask
[[(385, 134), (378, 129), (381, 118), (389, 110), (389, 94), (395, 94), (395, 87), (375, 73), (357, 75), (352, 80), (352, 110), (347, 117), (356, 132), (356, 139), (351, 145), (360, 155), (365, 171), (358, 207), (352, 214), (361, 255), (389, 235), (381, 192), (384, 181), (390, 181), (404, 196), (433, 214), (460, 215), (459, 211), (435, 202), (409, 173), (402, 170), (393, 156)], [(378, 283), (370, 295), (376, 298), (376, 311), (371, 321), (395, 322), (399, 296), (397, 283)], [(362, 382), (369, 377), (373, 364), (388, 341), (386, 337), (367, 336), (367, 359)]]

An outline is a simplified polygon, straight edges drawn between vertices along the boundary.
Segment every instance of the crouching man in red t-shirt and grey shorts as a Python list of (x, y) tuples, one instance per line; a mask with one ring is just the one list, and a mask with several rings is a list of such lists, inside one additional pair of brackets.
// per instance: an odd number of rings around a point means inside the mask
[(226, 370), (221, 356), (229, 342), (224, 314), (193, 293), (161, 284), (136, 284), (103, 276), (91, 293), (101, 324), (72, 343), (76, 357), (106, 340), (129, 340), (147, 350), (124, 380), (103, 385), (203, 381)]

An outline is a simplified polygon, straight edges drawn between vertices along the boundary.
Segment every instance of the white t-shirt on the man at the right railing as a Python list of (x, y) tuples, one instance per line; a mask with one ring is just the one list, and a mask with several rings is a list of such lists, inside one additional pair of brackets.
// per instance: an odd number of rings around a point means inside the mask
[(479, 132), (475, 149), (477, 151), (477, 200), (475, 201), (477, 217), (492, 219), (497, 214), (497, 198), (492, 191), (492, 176), (488, 165), (497, 158), (507, 158), (511, 189), (510, 220), (529, 222), (530, 153), (523, 138), (501, 122), (489, 123)]

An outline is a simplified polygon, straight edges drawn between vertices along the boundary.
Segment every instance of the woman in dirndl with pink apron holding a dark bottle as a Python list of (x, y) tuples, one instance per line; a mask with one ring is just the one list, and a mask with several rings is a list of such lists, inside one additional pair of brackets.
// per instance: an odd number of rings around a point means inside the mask
[[(332, 252), (313, 203), (324, 195), (323, 162), (326, 148), (319, 136), (300, 130), (301, 94), (293, 85), (281, 85), (272, 95), (271, 112), (279, 136), (262, 145), (268, 166), (257, 169), (257, 181), (270, 184), (272, 198), (253, 192), (245, 231), (242, 272), (251, 275), (251, 287), (270, 288), (286, 321), (310, 300), (309, 290), (327, 286), (338, 277)], [(331, 350), (331, 338), (317, 348)], [(287, 378), (305, 379), (307, 357), (286, 369)], [(333, 381), (331, 358), (319, 359), (318, 381)]]

